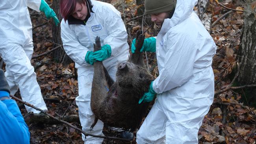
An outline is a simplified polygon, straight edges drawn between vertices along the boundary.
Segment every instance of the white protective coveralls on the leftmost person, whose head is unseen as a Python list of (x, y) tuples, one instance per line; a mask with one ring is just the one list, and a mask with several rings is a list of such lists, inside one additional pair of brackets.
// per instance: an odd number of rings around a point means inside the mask
[[(39, 109), (47, 110), (34, 68), (32, 24), (28, 7), (39, 11), (41, 0), (1, 0), (0, 56), (6, 63), (5, 76), (14, 95), (18, 86), (22, 100)], [(39, 113), (26, 106), (28, 112)]]

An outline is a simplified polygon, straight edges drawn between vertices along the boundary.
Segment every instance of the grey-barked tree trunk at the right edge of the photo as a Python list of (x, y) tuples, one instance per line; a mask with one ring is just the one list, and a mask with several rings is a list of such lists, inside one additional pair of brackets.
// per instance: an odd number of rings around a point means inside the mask
[[(245, 4), (244, 25), (238, 53), (239, 75), (241, 85), (256, 83), (256, 2), (248, 0)], [(250, 104), (256, 104), (256, 90), (245, 92)]]

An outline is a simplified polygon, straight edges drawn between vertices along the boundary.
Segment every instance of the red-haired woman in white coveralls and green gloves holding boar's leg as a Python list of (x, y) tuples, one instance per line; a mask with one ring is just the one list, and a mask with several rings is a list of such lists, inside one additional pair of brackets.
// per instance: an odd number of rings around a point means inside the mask
[[(93, 130), (94, 115), (91, 111), (91, 85), (93, 63), (103, 61), (109, 75), (115, 80), (117, 63), (129, 56), (127, 32), (121, 14), (111, 4), (96, 0), (61, 0), (61, 39), (67, 55), (78, 68), (78, 94), (76, 104), (83, 131), (103, 135), (103, 122), (98, 120)], [(102, 50), (93, 52), (96, 36), (100, 37)], [(104, 89), (104, 88), (102, 88)], [(131, 133), (130, 133), (131, 134)], [(132, 138), (133, 135), (130, 135)], [(101, 144), (103, 138), (82, 135), (86, 144)]]

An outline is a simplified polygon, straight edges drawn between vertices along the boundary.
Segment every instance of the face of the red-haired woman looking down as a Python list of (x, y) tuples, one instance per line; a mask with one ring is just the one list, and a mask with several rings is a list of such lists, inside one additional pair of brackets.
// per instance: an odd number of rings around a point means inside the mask
[(79, 20), (84, 20), (88, 14), (86, 2), (85, 4), (76, 3), (76, 9), (72, 13), (72, 16)]

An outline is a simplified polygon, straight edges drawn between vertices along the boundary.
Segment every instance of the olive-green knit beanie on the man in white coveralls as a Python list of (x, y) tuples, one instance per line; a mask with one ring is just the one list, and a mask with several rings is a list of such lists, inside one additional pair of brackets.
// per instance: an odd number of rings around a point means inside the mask
[(171, 12), (176, 6), (176, 0), (145, 0), (145, 14)]

